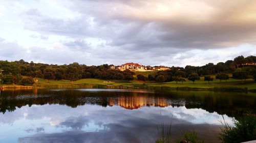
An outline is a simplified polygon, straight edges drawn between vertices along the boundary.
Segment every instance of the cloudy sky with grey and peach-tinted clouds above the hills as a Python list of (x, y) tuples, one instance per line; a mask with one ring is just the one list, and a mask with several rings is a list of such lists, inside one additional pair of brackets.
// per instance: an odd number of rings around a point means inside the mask
[(256, 55), (256, 1), (0, 1), (0, 60), (202, 66)]

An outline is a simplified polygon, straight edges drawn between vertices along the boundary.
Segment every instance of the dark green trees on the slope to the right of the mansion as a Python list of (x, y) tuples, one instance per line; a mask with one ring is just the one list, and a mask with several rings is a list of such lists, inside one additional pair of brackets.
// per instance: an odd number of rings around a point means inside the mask
[[(149, 74), (147, 77), (143, 75), (137, 75), (139, 80), (149, 80), (157, 82), (169, 82), (169, 81), (183, 81), (190, 80), (193, 83), (196, 80), (200, 80), (200, 76), (204, 77), (204, 81), (208, 83), (214, 80), (210, 75), (215, 75), (216, 79), (220, 81), (227, 81), (229, 78), (241, 79), (242, 83), (245, 83), (246, 79), (253, 78), (256, 81), (256, 66), (243, 66), (246, 63), (256, 63), (256, 56), (248, 56), (244, 58), (243, 55), (234, 58), (234, 60), (228, 60), (225, 63), (220, 62), (216, 65), (208, 63), (204, 66), (186, 66), (172, 67), (169, 71), (159, 71), (155, 76)], [(229, 77), (228, 73), (232, 73)]]

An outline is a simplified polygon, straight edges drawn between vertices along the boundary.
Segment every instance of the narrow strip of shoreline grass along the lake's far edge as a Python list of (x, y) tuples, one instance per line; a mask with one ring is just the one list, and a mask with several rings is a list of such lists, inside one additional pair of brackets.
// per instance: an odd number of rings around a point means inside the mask
[(256, 89), (239, 87), (214, 87), (214, 88), (195, 88), (195, 87), (169, 87), (165, 85), (109, 85), (109, 84), (53, 84), (53, 85), (0, 85), (0, 90), (5, 89), (129, 89), (129, 90), (177, 90), (177, 91), (223, 91), (223, 92), (251, 92), (256, 93)]

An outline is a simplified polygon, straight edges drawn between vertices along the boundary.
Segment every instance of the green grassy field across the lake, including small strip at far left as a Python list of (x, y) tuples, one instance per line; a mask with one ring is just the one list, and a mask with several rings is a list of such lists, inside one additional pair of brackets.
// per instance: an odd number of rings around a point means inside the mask
[[(215, 79), (214, 81), (210, 81), (208, 84), (208, 81), (203, 81), (204, 78), (201, 78), (200, 80), (196, 80), (193, 84), (192, 81), (185, 81), (178, 82), (176, 84), (175, 81), (172, 82), (164, 82), (164, 83), (156, 83), (156, 82), (149, 82), (149, 81), (139, 81), (139, 80), (133, 80), (133, 81), (125, 81), (125, 80), (103, 80), (103, 79), (95, 79), (95, 78), (87, 78), (87, 79), (80, 79), (77, 81), (69, 81), (69, 80), (50, 80), (48, 83), (48, 80), (46, 79), (38, 79), (38, 82), (34, 84), (34, 88), (84, 88), (86, 85), (108, 85), (108, 86), (151, 86), (151, 87), (170, 87), (170, 88), (177, 88), (177, 87), (189, 87), (189, 88), (227, 88), (227, 87), (237, 87), (237, 88), (248, 88), (248, 90), (255, 89), (256, 90), (256, 83), (252, 79), (247, 79), (245, 84), (241, 83), (241, 80), (238, 79), (229, 79), (227, 82), (223, 81), (220, 82), (220, 80)], [(111, 81), (111, 82), (104, 82), (104, 81)], [(0, 84), (0, 87), (8, 86), (8, 87), (15, 87), (20, 85), (6, 85), (6, 84)]]

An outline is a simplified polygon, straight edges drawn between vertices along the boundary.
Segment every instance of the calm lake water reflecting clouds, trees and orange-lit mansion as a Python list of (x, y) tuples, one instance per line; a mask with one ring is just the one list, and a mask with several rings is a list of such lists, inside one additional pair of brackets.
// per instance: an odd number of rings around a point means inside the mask
[(256, 113), (252, 93), (143, 90), (5, 90), (0, 142), (154, 142), (172, 119), (173, 140), (196, 131), (220, 142), (222, 116)]

